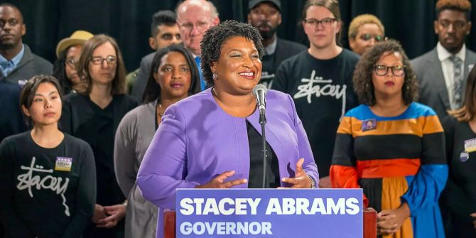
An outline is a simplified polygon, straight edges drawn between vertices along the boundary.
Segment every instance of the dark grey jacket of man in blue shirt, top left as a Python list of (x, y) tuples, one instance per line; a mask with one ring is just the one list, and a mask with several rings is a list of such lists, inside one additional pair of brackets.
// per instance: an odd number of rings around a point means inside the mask
[(1, 82), (11, 82), (18, 84), (18, 80), (29, 80), (34, 75), (51, 75), (53, 65), (38, 55), (31, 53), (28, 45), (25, 45), (25, 53), (20, 63), (6, 77), (0, 71)]

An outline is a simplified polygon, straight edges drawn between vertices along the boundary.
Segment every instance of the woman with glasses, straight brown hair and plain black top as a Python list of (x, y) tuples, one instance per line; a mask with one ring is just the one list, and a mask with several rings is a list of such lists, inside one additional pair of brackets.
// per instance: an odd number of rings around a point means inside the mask
[(86, 41), (77, 65), (85, 91), (65, 97), (61, 129), (92, 147), (97, 168), (97, 204), (85, 237), (124, 232), (126, 200), (114, 174), (114, 134), (122, 117), (137, 106), (126, 92), (124, 61), (116, 40), (97, 35)]

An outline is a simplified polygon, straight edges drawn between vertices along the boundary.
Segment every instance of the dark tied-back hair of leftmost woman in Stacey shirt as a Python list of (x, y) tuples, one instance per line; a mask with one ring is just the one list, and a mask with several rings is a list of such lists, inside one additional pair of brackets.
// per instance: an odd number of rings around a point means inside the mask
[[(54, 85), (56, 90), (58, 90), (58, 94), (60, 94), (61, 102), (63, 102), (63, 91), (61, 90), (60, 83), (55, 79), (55, 77), (50, 75), (35, 75), (26, 82), (26, 84), (23, 86), (23, 89), (21, 90), (20, 109), (22, 106), (26, 109), (30, 109), (31, 104), (33, 104), (33, 98), (35, 97), (36, 90), (38, 90), (38, 87), (40, 87), (40, 84), (43, 82), (49, 82), (50, 84)], [(21, 112), (23, 113), (23, 118), (25, 119), (26, 124), (28, 126), (33, 126), (33, 121), (31, 118), (28, 117), (25, 112), (23, 112), (23, 109), (21, 109)]]

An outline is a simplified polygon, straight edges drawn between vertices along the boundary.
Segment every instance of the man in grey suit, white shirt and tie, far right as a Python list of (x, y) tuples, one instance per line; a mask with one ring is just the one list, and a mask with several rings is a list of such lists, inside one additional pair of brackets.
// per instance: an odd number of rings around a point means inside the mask
[(470, 11), (470, 1), (439, 0), (434, 22), (438, 44), (411, 60), (420, 83), (419, 102), (432, 107), (440, 120), (448, 110), (462, 106), (467, 74), (476, 63), (476, 53), (465, 46), (471, 29)]

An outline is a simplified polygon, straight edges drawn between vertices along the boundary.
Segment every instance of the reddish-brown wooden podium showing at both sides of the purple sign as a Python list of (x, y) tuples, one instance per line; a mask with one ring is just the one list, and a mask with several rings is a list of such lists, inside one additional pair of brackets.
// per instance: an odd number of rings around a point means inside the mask
[[(175, 238), (175, 212), (163, 213), (163, 237)], [(364, 211), (364, 238), (377, 237), (377, 212)]]

